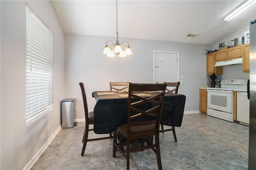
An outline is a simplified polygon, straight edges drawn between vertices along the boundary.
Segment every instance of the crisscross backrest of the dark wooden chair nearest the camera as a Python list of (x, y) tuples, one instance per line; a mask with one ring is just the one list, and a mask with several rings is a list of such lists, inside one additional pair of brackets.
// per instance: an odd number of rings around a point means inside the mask
[[(163, 84), (134, 84), (129, 83), (128, 94), (128, 123), (127, 131), (129, 134), (130, 127), (140, 125), (155, 125), (156, 132), (159, 133), (160, 119), (166, 83)], [(137, 94), (140, 92), (160, 91), (160, 93), (150, 93), (150, 97), (142, 97)], [(142, 118), (143, 117), (143, 118)], [(138, 119), (138, 121), (136, 121)], [(143, 120), (143, 121), (141, 121)]]

